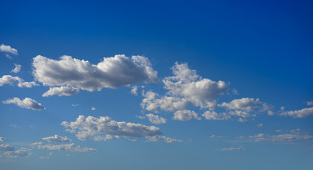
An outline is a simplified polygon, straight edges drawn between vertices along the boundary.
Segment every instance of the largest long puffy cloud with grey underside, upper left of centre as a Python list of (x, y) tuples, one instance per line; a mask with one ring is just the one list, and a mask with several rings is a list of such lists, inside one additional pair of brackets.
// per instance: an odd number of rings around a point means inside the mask
[(60, 60), (38, 55), (33, 59), (33, 68), (35, 79), (43, 85), (74, 86), (87, 91), (159, 81), (151, 62), (142, 56), (115, 55), (95, 65), (67, 55)]

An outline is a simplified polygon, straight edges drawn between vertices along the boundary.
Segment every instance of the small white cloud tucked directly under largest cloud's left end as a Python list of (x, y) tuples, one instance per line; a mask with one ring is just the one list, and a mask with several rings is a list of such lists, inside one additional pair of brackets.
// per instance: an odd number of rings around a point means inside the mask
[(47, 96), (72, 96), (73, 94), (78, 94), (79, 89), (72, 86), (60, 86), (60, 87), (50, 87), (45, 94), (42, 94), (43, 97)]

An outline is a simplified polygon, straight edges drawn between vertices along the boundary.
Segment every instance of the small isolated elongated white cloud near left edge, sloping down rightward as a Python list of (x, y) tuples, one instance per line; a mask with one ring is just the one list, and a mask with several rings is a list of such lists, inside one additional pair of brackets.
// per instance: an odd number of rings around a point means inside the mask
[(42, 106), (41, 103), (38, 103), (32, 98), (24, 98), (22, 101), (20, 98), (15, 97), (12, 99), (8, 99), (6, 101), (2, 101), (2, 103), (4, 104), (13, 103), (21, 108), (28, 108), (28, 109), (33, 109), (33, 110), (45, 110), (45, 108)]

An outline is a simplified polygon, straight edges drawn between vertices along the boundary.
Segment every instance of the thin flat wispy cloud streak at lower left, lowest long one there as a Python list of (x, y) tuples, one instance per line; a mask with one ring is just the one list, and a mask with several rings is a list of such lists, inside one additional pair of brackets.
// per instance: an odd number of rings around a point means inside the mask
[(63, 145), (44, 145), (42, 142), (36, 142), (30, 145), (36, 146), (38, 149), (46, 149), (46, 150), (64, 150), (69, 152), (95, 152), (97, 149), (84, 147), (81, 148), (79, 145), (74, 145), (74, 143), (63, 144)]

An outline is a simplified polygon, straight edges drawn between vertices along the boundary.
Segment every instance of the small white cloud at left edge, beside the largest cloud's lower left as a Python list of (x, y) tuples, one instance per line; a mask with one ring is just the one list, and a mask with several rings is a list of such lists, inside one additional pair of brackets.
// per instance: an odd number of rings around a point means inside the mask
[(35, 81), (26, 82), (20, 77), (12, 77), (10, 75), (4, 75), (3, 77), (0, 78), (0, 86), (3, 86), (4, 84), (13, 84), (13, 83), (16, 83), (18, 87), (21, 87), (21, 88), (24, 88), (24, 87), (30, 88), (33, 86), (38, 86), (38, 84), (36, 84)]

